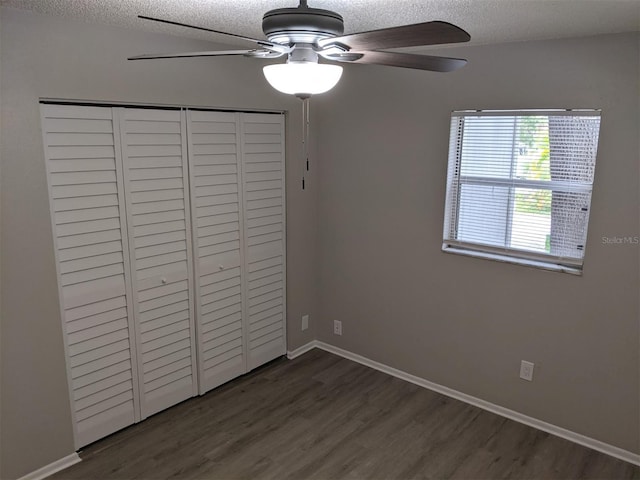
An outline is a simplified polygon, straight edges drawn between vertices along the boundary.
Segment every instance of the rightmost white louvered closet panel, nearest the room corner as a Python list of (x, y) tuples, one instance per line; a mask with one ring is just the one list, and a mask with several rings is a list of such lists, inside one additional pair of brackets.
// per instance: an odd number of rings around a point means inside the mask
[(248, 369), (286, 350), (284, 117), (242, 114)]

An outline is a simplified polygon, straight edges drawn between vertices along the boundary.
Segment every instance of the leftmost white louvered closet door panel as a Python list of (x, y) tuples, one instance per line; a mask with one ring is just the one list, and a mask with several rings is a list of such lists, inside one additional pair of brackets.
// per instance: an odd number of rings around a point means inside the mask
[(41, 113), (80, 448), (139, 419), (118, 125), (111, 108), (42, 105)]

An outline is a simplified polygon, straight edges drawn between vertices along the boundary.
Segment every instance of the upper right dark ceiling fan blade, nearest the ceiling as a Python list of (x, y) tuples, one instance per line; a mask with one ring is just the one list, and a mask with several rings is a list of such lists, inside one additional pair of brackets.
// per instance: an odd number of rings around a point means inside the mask
[(401, 27), (382, 28), (342, 37), (320, 40), (318, 46), (346, 45), (351, 50), (384, 50), (444, 43), (468, 42), (471, 37), (460, 27), (447, 22), (425, 22)]

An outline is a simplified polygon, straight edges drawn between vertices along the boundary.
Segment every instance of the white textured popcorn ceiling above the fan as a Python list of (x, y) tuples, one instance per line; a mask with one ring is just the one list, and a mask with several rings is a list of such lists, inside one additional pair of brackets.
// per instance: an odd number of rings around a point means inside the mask
[[(229, 43), (228, 37), (154, 24), (136, 16), (161, 17), (264, 38), (261, 31), (264, 12), (296, 6), (297, 0), (0, 0), (0, 3), (90, 23)], [(640, 0), (309, 0), (309, 6), (340, 13), (345, 20), (345, 33), (444, 20), (467, 30), (473, 44), (640, 30)]]

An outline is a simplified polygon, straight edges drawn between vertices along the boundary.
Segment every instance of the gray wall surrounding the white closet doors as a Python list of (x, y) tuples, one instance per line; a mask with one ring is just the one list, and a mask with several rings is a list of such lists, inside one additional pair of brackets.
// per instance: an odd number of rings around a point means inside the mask
[[(212, 45), (10, 9), (2, 10), (1, 30), (0, 477), (13, 478), (74, 450), (39, 97), (289, 110), (287, 308), (291, 349), (314, 338), (317, 189), (313, 179), (308, 190), (300, 189), (299, 100), (266, 84), (261, 61), (128, 63), (126, 57), (138, 53), (208, 50)], [(312, 322), (304, 334), (300, 331), (303, 313), (311, 314)]]

